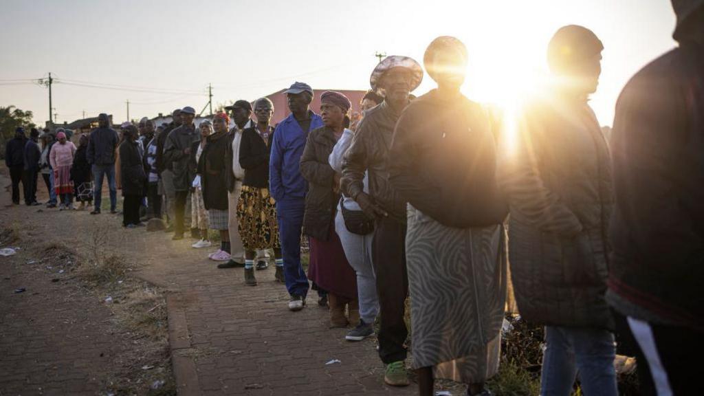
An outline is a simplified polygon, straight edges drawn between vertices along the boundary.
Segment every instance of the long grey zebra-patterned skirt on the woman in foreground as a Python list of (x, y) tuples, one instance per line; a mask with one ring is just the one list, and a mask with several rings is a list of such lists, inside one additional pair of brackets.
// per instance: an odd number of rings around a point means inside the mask
[(449, 228), (408, 205), (413, 366), (479, 383), (498, 371), (506, 300), (503, 225)]

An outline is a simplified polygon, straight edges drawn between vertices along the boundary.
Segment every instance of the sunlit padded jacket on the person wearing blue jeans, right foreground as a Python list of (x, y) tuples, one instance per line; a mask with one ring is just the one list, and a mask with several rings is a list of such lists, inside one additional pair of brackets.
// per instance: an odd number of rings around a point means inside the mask
[(596, 116), (586, 101), (555, 94), (521, 121), (500, 177), (520, 314), (548, 326), (612, 329), (605, 301), (612, 180)]

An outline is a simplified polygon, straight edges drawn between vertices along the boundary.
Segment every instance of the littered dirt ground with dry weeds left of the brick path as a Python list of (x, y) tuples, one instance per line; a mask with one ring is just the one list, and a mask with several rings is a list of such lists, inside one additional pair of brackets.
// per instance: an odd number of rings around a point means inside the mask
[(119, 219), (90, 233), (87, 212), (12, 206), (8, 184), (1, 173), (0, 248), (17, 254), (0, 257), (0, 395), (175, 395), (163, 289), (106, 249)]

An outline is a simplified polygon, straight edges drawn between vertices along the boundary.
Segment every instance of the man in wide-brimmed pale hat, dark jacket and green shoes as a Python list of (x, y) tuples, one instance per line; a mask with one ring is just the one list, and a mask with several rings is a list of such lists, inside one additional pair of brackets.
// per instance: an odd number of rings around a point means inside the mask
[[(372, 89), (383, 92), (385, 100), (370, 109), (358, 125), (342, 164), (341, 187), (370, 218), (375, 218), (372, 262), (379, 294), (379, 357), (386, 364), (384, 381), (408, 385), (406, 342), (408, 329), (403, 321), (408, 295), (406, 276), (406, 202), (389, 186), (389, 146), (401, 111), (409, 95), (420, 85), (423, 70), (408, 56), (389, 56), (372, 72)], [(370, 190), (364, 191), (368, 172)]]

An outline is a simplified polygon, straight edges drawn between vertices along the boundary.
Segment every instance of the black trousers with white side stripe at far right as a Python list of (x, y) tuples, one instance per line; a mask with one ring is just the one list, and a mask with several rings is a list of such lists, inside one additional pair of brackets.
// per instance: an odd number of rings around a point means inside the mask
[[(694, 381), (702, 374), (701, 355), (704, 354), (704, 342), (702, 342), (704, 332), (680, 326), (648, 323), (647, 326), (653, 335), (650, 341), (653, 342), (654, 348), (648, 348), (646, 353), (646, 349), (643, 349), (639, 342), (645, 342), (643, 345), (648, 345), (648, 337), (644, 337), (642, 331), (634, 332), (634, 327), (629, 324), (625, 316), (615, 312), (614, 318), (620, 342), (634, 349), (638, 362), (636, 369), (641, 395), (657, 396), (658, 387), (664, 386), (665, 383), (669, 385), (668, 388), (673, 395), (693, 394)], [(654, 357), (660, 361), (662, 368), (660, 370), (656, 366), (658, 373), (650, 370), (650, 364), (656, 361)], [(661, 380), (663, 373), (666, 374), (667, 381)]]

